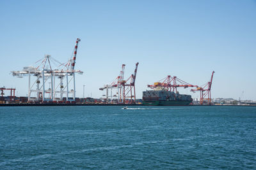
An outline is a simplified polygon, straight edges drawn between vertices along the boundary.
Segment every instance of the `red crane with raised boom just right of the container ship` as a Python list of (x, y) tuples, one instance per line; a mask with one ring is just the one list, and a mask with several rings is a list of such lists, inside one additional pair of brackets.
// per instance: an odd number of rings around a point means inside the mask
[(212, 87), (212, 78), (215, 72), (212, 71), (211, 80), (202, 85), (202, 87), (197, 87), (196, 89), (191, 89), (192, 92), (200, 91), (200, 104), (204, 104), (204, 101), (207, 101), (208, 105), (211, 105), (211, 87)]

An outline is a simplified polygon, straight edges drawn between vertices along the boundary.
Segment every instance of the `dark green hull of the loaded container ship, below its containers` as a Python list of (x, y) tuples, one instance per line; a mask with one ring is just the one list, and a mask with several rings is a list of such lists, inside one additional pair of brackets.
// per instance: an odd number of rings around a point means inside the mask
[(192, 101), (143, 101), (145, 106), (188, 106)]

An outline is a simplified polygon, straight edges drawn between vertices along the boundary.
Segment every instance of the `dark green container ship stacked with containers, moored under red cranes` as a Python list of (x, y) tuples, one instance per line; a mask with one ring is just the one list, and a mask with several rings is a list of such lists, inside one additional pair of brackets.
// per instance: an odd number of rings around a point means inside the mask
[(142, 99), (143, 105), (148, 106), (187, 106), (193, 101), (191, 95), (166, 90), (147, 90)]

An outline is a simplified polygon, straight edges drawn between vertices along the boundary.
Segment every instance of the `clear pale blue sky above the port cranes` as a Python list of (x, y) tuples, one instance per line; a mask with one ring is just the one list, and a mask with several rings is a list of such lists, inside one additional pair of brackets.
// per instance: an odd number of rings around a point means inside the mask
[[(212, 97), (256, 100), (256, 1), (0, 1), (0, 87), (28, 93), (28, 78), (10, 71), (44, 54), (66, 61), (76, 38), (77, 96), (100, 97), (124, 63), (136, 62), (137, 96), (168, 74), (209, 81)], [(181, 90), (191, 94), (189, 90)], [(192, 94), (198, 97), (199, 94)]]

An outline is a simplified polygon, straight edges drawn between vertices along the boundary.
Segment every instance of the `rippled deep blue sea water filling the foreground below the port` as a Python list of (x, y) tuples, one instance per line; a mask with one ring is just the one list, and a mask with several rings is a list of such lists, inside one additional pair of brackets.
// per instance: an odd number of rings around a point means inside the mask
[(0, 107), (0, 169), (256, 169), (256, 107)]

